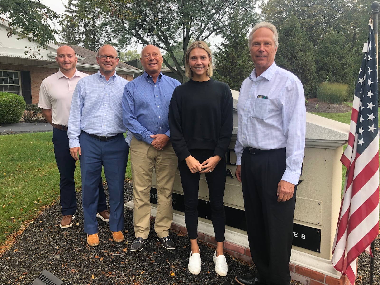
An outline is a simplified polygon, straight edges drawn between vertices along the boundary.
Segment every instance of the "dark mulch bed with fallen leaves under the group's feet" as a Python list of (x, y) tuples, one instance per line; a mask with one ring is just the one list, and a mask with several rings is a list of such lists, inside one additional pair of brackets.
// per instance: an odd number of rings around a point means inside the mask
[[(132, 199), (131, 183), (125, 184), (125, 201)], [(107, 193), (107, 192), (106, 192)], [(122, 244), (112, 241), (108, 223), (98, 219), (100, 245), (87, 245), (83, 232), (81, 193), (77, 193), (78, 210), (74, 225), (62, 229), (60, 205), (45, 209), (20, 236), (8, 251), (0, 255), (0, 284), (32, 284), (47, 269), (63, 281), (63, 284), (236, 284), (238, 274), (254, 274), (255, 267), (226, 254), (228, 275), (221, 277), (214, 271), (214, 249), (200, 242), (202, 271), (192, 275), (187, 271), (190, 242), (186, 234), (171, 231), (176, 250), (164, 249), (157, 242), (154, 225), (150, 224), (148, 243), (139, 253), (130, 252), (134, 240), (133, 212), (124, 211), (124, 236)], [(378, 248), (376, 240), (375, 280), (380, 280)], [(358, 282), (369, 284), (369, 256), (361, 255), (358, 266)], [(292, 284), (299, 284), (292, 282)], [(375, 282), (377, 284), (377, 281)], [(379, 283), (380, 284), (380, 283)]]

